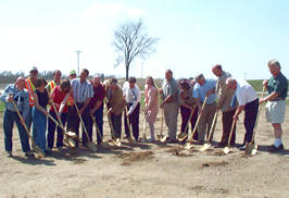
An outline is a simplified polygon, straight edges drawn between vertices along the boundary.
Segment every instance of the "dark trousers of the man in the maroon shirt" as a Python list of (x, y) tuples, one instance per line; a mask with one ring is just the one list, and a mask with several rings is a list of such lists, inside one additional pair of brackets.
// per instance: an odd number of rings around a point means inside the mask
[[(96, 119), (99, 132), (97, 132), (97, 140), (98, 144), (101, 143), (101, 139), (103, 138), (103, 106), (99, 107), (99, 109), (95, 112), (95, 114), (92, 115)], [(88, 134), (91, 134), (91, 140), (92, 140), (92, 131), (93, 131), (93, 121), (91, 117), (89, 117), (91, 121), (89, 122), (89, 125), (87, 127)]]

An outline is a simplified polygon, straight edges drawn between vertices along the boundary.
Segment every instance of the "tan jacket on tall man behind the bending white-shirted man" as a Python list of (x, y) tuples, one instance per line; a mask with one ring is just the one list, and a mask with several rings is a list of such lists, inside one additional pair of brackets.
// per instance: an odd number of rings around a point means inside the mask
[(223, 72), (222, 76), (218, 77), (218, 83), (216, 87), (218, 95), (217, 107), (221, 108), (222, 112), (231, 111), (237, 108), (237, 104), (235, 104), (235, 107), (230, 107), (234, 90), (227, 88), (226, 79), (228, 77), (231, 77), (230, 73)]

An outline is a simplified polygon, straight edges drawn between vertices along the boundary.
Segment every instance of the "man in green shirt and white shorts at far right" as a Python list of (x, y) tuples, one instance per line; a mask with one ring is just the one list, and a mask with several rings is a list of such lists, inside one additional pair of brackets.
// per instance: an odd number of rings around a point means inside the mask
[(288, 91), (288, 81), (280, 72), (280, 63), (276, 60), (268, 62), (269, 72), (272, 77), (269, 81), (264, 81), (263, 86), (268, 90), (268, 96), (260, 100), (260, 103), (268, 101), (266, 104), (266, 119), (267, 122), (272, 123), (274, 128), (275, 140), (269, 146), (271, 152), (276, 152), (284, 149), (281, 141), (285, 110), (286, 110), (286, 98)]

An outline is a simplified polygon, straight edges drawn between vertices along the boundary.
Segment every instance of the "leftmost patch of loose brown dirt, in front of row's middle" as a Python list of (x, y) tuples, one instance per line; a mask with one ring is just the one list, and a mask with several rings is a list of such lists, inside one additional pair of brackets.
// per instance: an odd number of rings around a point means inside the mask
[(122, 165), (131, 165), (134, 162), (139, 161), (147, 161), (153, 159), (152, 151), (144, 151), (144, 152), (129, 152), (129, 153), (122, 153), (117, 156), (123, 160)]

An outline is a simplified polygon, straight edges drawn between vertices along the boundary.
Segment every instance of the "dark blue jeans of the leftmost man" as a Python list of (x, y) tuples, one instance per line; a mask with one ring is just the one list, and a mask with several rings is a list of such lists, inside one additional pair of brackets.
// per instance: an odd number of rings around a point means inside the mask
[(21, 124), (17, 113), (10, 110), (5, 110), (3, 115), (5, 151), (12, 151), (12, 129), (14, 122), (18, 128), (22, 150), (23, 152), (27, 152), (30, 150), (28, 135), (25, 132), (24, 126)]

